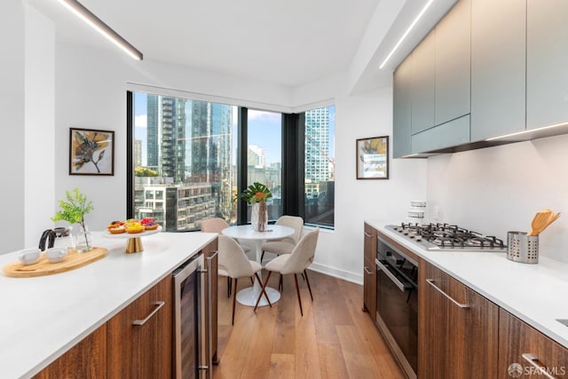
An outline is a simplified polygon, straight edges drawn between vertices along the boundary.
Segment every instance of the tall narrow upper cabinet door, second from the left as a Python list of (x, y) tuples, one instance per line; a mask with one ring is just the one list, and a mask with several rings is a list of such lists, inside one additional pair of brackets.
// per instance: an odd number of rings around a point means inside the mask
[(435, 125), (436, 30), (432, 30), (412, 52), (412, 134)]

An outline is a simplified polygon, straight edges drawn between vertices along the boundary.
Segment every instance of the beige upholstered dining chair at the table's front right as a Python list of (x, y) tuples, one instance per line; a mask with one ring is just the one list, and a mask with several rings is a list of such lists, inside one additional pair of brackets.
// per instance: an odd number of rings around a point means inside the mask
[[(313, 262), (313, 257), (316, 253), (316, 246), (318, 244), (318, 235), (319, 228), (317, 227), (312, 230), (312, 232), (306, 233), (290, 254), (283, 254), (280, 257), (275, 257), (274, 259), (272, 259), (272, 261), (264, 266), (264, 269), (268, 270), (268, 275), (266, 276), (266, 280), (264, 280), (263, 292), (272, 272), (279, 272), (280, 277), (288, 273), (294, 274), (294, 280), (296, 282), (296, 294), (298, 296), (298, 304), (300, 304), (300, 314), (302, 314), (302, 316), (304, 316), (304, 310), (302, 309), (302, 298), (300, 297), (300, 288), (298, 287), (297, 274), (304, 274), (305, 282), (308, 285), (310, 297), (313, 301), (312, 287), (310, 286), (310, 280), (308, 279), (308, 272), (306, 271), (306, 269)], [(255, 311), (259, 302), (260, 296), (258, 296), (258, 299), (256, 300)]]

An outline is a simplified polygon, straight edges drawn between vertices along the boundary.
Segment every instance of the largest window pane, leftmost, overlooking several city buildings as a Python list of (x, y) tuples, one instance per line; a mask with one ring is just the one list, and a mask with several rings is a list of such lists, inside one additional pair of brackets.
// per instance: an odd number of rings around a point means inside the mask
[(133, 103), (133, 217), (154, 217), (168, 231), (234, 221), (237, 107), (138, 92)]

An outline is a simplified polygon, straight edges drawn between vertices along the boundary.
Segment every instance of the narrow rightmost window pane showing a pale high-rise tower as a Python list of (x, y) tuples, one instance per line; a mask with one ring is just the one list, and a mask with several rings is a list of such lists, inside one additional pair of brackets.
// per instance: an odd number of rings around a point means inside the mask
[(304, 221), (333, 227), (335, 107), (306, 111), (304, 121)]

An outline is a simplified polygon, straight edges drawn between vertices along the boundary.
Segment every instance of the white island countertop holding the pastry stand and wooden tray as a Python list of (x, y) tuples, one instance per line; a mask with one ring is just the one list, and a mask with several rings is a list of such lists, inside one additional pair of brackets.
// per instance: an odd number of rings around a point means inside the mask
[[(144, 251), (126, 254), (126, 240), (93, 233), (108, 256), (90, 265), (36, 278), (0, 274), (0, 376), (36, 375), (216, 237), (157, 233), (142, 237)], [(0, 255), (0, 267), (17, 259)]]

